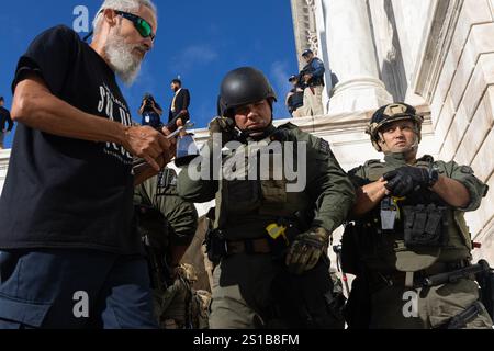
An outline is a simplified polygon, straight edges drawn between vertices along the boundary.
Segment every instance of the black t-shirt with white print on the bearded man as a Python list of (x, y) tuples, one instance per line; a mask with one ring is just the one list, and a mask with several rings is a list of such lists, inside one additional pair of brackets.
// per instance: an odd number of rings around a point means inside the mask
[[(114, 72), (72, 30), (56, 26), (34, 39), (19, 60), (13, 90), (26, 72), (38, 75), (70, 105), (131, 125)], [(132, 227), (133, 181), (132, 156), (122, 146), (20, 124), (0, 199), (0, 249), (139, 253)]]

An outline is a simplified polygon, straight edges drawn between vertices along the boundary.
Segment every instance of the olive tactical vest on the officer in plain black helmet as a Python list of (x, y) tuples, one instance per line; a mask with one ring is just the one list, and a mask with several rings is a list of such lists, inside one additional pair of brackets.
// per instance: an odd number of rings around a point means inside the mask
[[(266, 152), (267, 148), (273, 152)], [(268, 168), (261, 169), (261, 163), (268, 163), (261, 159), (269, 160)], [(294, 214), (310, 204), (304, 192), (287, 192), (283, 160), (283, 147), (273, 147), (271, 137), (242, 145), (223, 160), (215, 228), (225, 229), (227, 239), (263, 237), (269, 224), (280, 218), (295, 220)]]

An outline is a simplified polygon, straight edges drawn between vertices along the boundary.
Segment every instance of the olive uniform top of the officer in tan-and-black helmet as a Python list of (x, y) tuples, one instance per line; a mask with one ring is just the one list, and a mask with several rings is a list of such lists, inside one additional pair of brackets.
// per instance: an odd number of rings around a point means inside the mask
[[(407, 165), (402, 154), (390, 154), (385, 156), (383, 162), (379, 160), (368, 161), (366, 165), (351, 170), (349, 174), (356, 186), (363, 186), (378, 181), (383, 174), (405, 166)], [(359, 245), (358, 248), (351, 250), (357, 249), (357, 254), (370, 269), (415, 272), (426, 269), (435, 262), (451, 262), (471, 258), (472, 241), (463, 216), (465, 212), (479, 208), (482, 197), (486, 195), (487, 185), (473, 174), (470, 167), (460, 166), (454, 161), (436, 161), (430, 156), (424, 156), (413, 166), (426, 169), (434, 167), (439, 176), (459, 181), (467, 188), (470, 194), (470, 203), (464, 208), (453, 208), (431, 190), (418, 190), (405, 199), (395, 199), (398, 218), (394, 230), (381, 230), (381, 206), (374, 207), (357, 220), (357, 231), (359, 231), (357, 241)], [(444, 245), (440, 247), (406, 247), (403, 240), (403, 222), (407, 219), (403, 218), (403, 208), (428, 204), (447, 208)]]

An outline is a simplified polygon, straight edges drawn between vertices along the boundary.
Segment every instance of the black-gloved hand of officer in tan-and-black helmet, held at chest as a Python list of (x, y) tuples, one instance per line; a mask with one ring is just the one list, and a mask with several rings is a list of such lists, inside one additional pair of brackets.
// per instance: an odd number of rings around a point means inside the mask
[(403, 197), (420, 188), (430, 186), (429, 171), (424, 168), (405, 166), (383, 176), (384, 186), (393, 196)]

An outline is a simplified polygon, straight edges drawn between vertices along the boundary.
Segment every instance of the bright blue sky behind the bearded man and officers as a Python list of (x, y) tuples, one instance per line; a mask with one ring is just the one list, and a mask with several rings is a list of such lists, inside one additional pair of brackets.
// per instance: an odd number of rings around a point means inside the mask
[[(223, 76), (239, 66), (255, 66), (268, 76), (279, 102), (277, 118), (288, 117), (284, 95), (288, 77), (297, 70), (289, 0), (157, 0), (159, 27), (155, 49), (147, 56), (141, 77), (122, 87), (134, 113), (144, 92), (151, 92), (165, 109), (172, 99), (169, 82), (180, 76), (191, 90), (192, 120), (206, 126), (215, 115)], [(92, 19), (100, 0), (4, 1), (0, 12), (0, 95), (11, 106), (10, 84), (19, 57), (43, 30), (56, 24), (72, 26), (74, 9), (85, 5)], [(81, 33), (83, 35), (85, 33)], [(7, 138), (10, 147), (13, 134)]]

